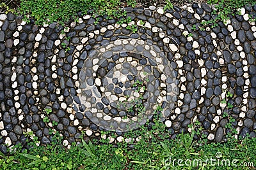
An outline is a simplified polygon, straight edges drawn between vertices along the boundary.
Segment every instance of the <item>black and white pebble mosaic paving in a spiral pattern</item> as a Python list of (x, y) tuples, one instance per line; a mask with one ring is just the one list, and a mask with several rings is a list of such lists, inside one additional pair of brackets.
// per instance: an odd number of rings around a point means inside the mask
[(100, 17), (95, 25), (89, 15), (67, 29), (0, 15), (1, 152), (5, 144), (24, 144), (27, 131), (43, 144), (51, 143), (49, 129), (65, 136), (64, 145), (81, 131), (90, 138), (102, 129), (120, 136), (159, 107), (173, 137), (198, 120), (208, 139), (225, 141), (227, 92), (232, 125), (241, 136), (256, 136), (256, 26), (249, 22), (256, 6), (205, 31), (198, 27), (212, 18), (207, 4), (125, 10), (138, 32), (115, 19)]

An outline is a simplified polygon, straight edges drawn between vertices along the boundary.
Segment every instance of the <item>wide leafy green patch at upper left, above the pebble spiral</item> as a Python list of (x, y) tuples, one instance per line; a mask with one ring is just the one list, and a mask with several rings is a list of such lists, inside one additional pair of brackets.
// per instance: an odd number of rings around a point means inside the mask
[[(130, 0), (127, 5), (135, 6), (136, 1)], [(107, 15), (111, 17), (121, 17), (123, 15), (120, 0), (22, 0), (18, 13), (25, 16), (29, 22), (29, 17), (35, 18), (35, 24), (43, 25), (51, 22), (58, 22), (64, 25), (70, 18), (77, 20), (77, 12), (83, 14), (92, 13), (94, 16)]]

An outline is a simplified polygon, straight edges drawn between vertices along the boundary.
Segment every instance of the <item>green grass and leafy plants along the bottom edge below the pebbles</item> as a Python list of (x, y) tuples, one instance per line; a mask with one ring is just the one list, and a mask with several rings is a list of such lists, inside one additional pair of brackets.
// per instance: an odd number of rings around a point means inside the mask
[[(52, 134), (51, 145), (38, 145), (27, 139), (28, 147), (16, 145), (9, 155), (1, 155), (1, 169), (255, 169), (256, 138), (228, 138), (225, 143), (205, 140), (201, 124), (189, 125), (191, 132), (175, 138), (161, 122), (151, 129), (143, 126), (124, 136), (131, 140), (115, 144), (108, 138), (87, 143), (82, 132), (80, 143), (69, 149), (60, 133)], [(102, 136), (117, 137), (113, 132)], [(33, 134), (29, 133), (29, 136)], [(194, 138), (198, 138), (195, 140)], [(173, 139), (170, 139), (173, 138)], [(136, 140), (137, 139), (137, 140)], [(198, 141), (201, 141), (198, 143)], [(26, 148), (26, 149), (25, 149)], [(211, 160), (211, 161), (210, 161)], [(254, 165), (254, 166), (253, 166)]]

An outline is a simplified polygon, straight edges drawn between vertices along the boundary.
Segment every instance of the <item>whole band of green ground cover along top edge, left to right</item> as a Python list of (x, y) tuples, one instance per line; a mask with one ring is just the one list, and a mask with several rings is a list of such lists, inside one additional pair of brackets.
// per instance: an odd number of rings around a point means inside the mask
[[(198, 1), (201, 3), (202, 1)], [(183, 4), (188, 3), (197, 3), (194, 1), (186, 1), (177, 3), (176, 1), (152, 1), (152, 4), (161, 4), (164, 6), (164, 10), (173, 8), (173, 4), (182, 6)], [(256, 2), (254, 0), (209, 0), (207, 1), (208, 4), (211, 4), (214, 7), (212, 10), (212, 18), (211, 20), (207, 20), (201, 23), (201, 27), (196, 29), (204, 30), (206, 26), (216, 27), (218, 22), (227, 22), (230, 16), (240, 15), (241, 10), (239, 8), (244, 6), (254, 5)], [(55, 1), (55, 0), (22, 0), (17, 4), (15, 4), (15, 9), (9, 7), (6, 3), (1, 3), (1, 8), (4, 8), (6, 12), (12, 12), (23, 15), (24, 20), (30, 22), (30, 18), (35, 19), (35, 23), (38, 25), (43, 25), (58, 22), (61, 25), (65, 25), (70, 20), (78, 21), (78, 17), (84, 14), (93, 15), (93, 17), (97, 18), (97, 16), (106, 15), (107, 18), (116, 18), (120, 20), (122, 23), (129, 23), (129, 19), (126, 20), (124, 17), (126, 13), (124, 11), (124, 6), (131, 6), (132, 8), (138, 7), (147, 7), (147, 1), (136, 1), (136, 0), (129, 0), (129, 1), (122, 1), (122, 0), (68, 0), (68, 1)], [(17, 8), (17, 6), (20, 6)], [(80, 15), (80, 16), (79, 16)], [(256, 14), (250, 13), (249, 14), (250, 20), (253, 22), (255, 21)], [(131, 22), (131, 21), (130, 21)], [(122, 24), (120, 23), (120, 24)], [(97, 24), (97, 20), (96, 20)], [(130, 28), (131, 27), (131, 28)], [(136, 28), (133, 28), (131, 25), (128, 29), (132, 29), (132, 31), (136, 32)], [(195, 29), (195, 30), (196, 30)]]

